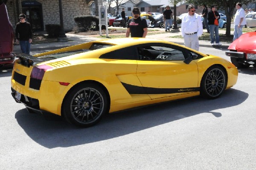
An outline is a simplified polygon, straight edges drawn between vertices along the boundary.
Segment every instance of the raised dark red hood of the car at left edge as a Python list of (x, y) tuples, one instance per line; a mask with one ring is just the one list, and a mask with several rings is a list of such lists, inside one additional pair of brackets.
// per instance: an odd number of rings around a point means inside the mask
[(0, 4), (0, 55), (9, 54), (13, 49), (13, 28), (9, 21), (5, 3)]

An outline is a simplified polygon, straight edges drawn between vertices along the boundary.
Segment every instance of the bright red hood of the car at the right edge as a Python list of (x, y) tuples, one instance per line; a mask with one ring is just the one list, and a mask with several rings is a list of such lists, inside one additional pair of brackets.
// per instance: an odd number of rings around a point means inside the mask
[(236, 39), (233, 43), (230, 44), (228, 49), (248, 49), (255, 50), (256, 49), (256, 32), (247, 32), (238, 39)]

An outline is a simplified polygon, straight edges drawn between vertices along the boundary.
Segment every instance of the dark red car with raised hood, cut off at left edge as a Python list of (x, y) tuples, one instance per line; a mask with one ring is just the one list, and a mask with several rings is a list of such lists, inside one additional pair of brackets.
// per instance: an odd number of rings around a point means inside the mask
[(0, 68), (12, 66), (14, 63), (14, 55), (12, 55), (14, 33), (12, 24), (9, 21), (5, 3), (0, 1)]

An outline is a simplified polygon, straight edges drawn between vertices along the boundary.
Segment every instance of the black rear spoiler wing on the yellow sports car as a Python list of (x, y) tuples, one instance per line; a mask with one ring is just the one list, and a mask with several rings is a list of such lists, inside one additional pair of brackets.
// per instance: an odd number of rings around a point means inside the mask
[(34, 63), (40, 63), (43, 62), (44, 60), (34, 57), (32, 55), (24, 54), (21, 52), (11, 52), (13, 55), (15, 55), (15, 58), (18, 58), (17, 61), (18, 63), (22, 64), (23, 66), (32, 66)]

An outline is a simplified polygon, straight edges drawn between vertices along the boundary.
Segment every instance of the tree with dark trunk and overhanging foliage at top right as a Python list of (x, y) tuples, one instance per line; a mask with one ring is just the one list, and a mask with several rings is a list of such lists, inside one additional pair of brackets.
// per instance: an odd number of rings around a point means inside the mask
[(248, 3), (253, 1), (255, 0), (217, 0), (213, 3), (212, 0), (188, 0), (187, 3), (192, 3), (198, 6), (206, 4), (208, 7), (216, 5), (218, 9), (225, 10), (225, 14), (227, 16), (226, 36), (230, 36), (231, 19), (234, 15), (236, 3), (240, 2), (242, 4), (247, 5)]

